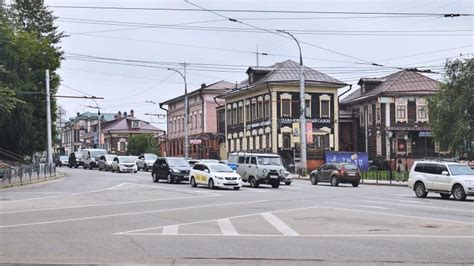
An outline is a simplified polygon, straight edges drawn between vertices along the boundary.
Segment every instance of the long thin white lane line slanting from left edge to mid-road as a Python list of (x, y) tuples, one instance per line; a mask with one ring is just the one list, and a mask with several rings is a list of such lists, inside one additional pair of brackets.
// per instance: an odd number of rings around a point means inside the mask
[(52, 220), (52, 221), (46, 221), (46, 222), (9, 224), (9, 225), (0, 225), (0, 228), (14, 228), (14, 227), (23, 227), (23, 226), (32, 226), (32, 225), (45, 225), (45, 224), (65, 223), (65, 222), (87, 221), (87, 220), (103, 219), (103, 218), (110, 218), (110, 217), (120, 217), (120, 216), (128, 216), (128, 215), (160, 213), (160, 212), (169, 212), (169, 211), (182, 211), (182, 210), (190, 210), (190, 209), (196, 209), (196, 208), (208, 208), (208, 207), (219, 207), (219, 206), (250, 204), (250, 203), (262, 203), (262, 202), (269, 202), (269, 200), (255, 200), (255, 201), (241, 201), (241, 202), (232, 202), (232, 203), (207, 204), (207, 205), (189, 206), (189, 207), (154, 210), (154, 211), (126, 212), (126, 213), (117, 213), (117, 214), (108, 214), (108, 215), (87, 216), (87, 217), (72, 218), (72, 219)]

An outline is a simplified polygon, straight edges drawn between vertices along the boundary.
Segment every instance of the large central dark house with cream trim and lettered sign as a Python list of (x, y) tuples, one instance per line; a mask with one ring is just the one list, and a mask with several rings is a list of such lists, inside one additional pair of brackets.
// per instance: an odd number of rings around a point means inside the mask
[[(220, 98), (219, 131), (225, 135), (221, 156), (229, 152), (278, 153), (285, 165), (300, 158), (300, 65), (292, 60), (249, 67), (248, 79)], [(337, 90), (345, 83), (305, 68), (308, 169), (323, 163), (326, 150), (338, 150)]]

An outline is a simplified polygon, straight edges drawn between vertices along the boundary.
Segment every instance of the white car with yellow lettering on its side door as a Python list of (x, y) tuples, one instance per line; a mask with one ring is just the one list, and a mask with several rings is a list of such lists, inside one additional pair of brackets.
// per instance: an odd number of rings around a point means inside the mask
[(242, 187), (242, 178), (228, 165), (221, 163), (196, 163), (189, 173), (191, 186), (206, 185), (210, 189)]

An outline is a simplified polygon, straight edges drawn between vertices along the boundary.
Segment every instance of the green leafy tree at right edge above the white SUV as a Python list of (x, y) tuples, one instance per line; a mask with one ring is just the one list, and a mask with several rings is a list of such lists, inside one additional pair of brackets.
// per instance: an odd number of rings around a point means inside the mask
[(444, 84), (429, 99), (433, 136), (455, 154), (474, 159), (474, 59), (448, 61)]

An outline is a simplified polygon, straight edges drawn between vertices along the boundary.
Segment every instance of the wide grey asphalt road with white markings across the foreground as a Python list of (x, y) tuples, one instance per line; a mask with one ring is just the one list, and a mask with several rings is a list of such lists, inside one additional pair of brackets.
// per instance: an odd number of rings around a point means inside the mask
[(209, 190), (153, 183), (149, 172), (61, 171), (0, 191), (0, 262), (474, 264), (473, 198), (305, 180)]

